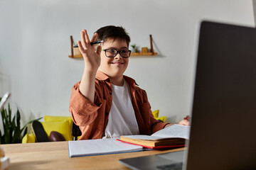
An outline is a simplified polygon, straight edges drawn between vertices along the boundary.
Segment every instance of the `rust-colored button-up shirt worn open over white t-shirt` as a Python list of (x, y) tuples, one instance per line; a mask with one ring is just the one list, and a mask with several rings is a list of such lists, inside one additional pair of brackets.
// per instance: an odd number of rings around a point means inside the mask
[[(125, 77), (131, 91), (132, 106), (141, 135), (151, 135), (161, 130), (168, 123), (161, 123), (154, 118), (146, 91), (140, 89), (134, 79)], [(79, 91), (80, 82), (73, 86), (70, 97), (70, 113), (82, 135), (79, 140), (100, 139), (105, 132), (107, 119), (112, 105), (110, 78), (97, 71), (95, 79), (95, 101), (92, 103)]]

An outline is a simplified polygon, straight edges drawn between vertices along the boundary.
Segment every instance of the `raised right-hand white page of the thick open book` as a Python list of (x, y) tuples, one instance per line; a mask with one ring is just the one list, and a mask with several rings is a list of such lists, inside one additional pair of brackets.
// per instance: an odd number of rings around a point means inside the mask
[(190, 126), (174, 124), (152, 134), (152, 137), (181, 137), (188, 139)]

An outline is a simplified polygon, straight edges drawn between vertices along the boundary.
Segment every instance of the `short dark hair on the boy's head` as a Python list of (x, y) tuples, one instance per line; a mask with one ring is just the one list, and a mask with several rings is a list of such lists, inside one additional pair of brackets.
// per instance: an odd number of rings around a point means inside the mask
[(105, 26), (98, 29), (95, 33), (98, 35), (97, 40), (103, 40), (105, 42), (108, 38), (114, 38), (114, 40), (120, 38), (121, 40), (125, 40), (129, 46), (129, 35), (121, 26)]

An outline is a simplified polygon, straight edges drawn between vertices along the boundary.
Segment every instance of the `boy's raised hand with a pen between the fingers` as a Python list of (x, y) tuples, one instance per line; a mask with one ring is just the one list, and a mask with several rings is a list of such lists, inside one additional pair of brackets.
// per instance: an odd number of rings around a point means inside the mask
[(82, 30), (81, 41), (78, 41), (78, 47), (85, 62), (85, 69), (88, 72), (96, 72), (98, 67), (100, 67), (100, 52), (102, 47), (98, 45), (95, 51), (94, 45), (90, 45), (90, 42), (95, 41), (96, 38), (97, 33), (95, 33), (92, 36), (92, 40), (90, 40), (87, 30)]

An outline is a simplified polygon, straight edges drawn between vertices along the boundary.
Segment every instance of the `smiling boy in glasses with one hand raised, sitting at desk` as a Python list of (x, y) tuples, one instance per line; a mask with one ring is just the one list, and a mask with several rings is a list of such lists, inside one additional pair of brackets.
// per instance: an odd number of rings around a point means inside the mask
[[(95, 40), (103, 42), (90, 45)], [(80, 140), (151, 135), (171, 125), (154, 119), (146, 91), (123, 75), (131, 54), (129, 42), (122, 27), (100, 28), (91, 40), (82, 30), (78, 47), (85, 68), (70, 97), (70, 113), (82, 131)], [(189, 125), (187, 120), (178, 124)]]

